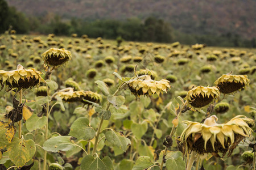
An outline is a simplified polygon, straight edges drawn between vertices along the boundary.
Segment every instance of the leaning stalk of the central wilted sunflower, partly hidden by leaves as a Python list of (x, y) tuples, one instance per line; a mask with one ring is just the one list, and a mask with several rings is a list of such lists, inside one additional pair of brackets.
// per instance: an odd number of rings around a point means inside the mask
[[(127, 82), (125, 83), (122, 83), (117, 91), (114, 92), (113, 96), (116, 96), (118, 94), (119, 91), (123, 90), (123, 88), (125, 88), (127, 85)], [(110, 102), (108, 101), (108, 105), (106, 107), (106, 111), (109, 110), (109, 107), (110, 107)], [(93, 146), (93, 151), (92, 151), (92, 155), (96, 153), (96, 150), (97, 150), (97, 146), (98, 146), (98, 138), (100, 137), (100, 133), (101, 133), (101, 126), (103, 124), (103, 121), (104, 121), (104, 118), (103, 116), (101, 117), (101, 121), (100, 121), (100, 124), (98, 125), (98, 129), (97, 129), (97, 132), (96, 132), (96, 137), (95, 137), (95, 142), (94, 142), (94, 146)]]

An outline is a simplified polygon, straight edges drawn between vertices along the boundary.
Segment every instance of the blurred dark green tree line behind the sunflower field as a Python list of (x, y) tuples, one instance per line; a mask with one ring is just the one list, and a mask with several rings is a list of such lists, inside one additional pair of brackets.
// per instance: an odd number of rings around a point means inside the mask
[(45, 16), (26, 17), (22, 12), (9, 7), (5, 0), (0, 0), (0, 33), (10, 26), (17, 33), (40, 33), (70, 36), (88, 35), (96, 38), (116, 39), (122, 37), (127, 41), (175, 42), (181, 44), (207, 44), (209, 46), (238, 46), (256, 48), (256, 39), (246, 40), (238, 35), (226, 33), (222, 36), (186, 34), (176, 31), (170, 23), (155, 17), (145, 20), (130, 18), (127, 20), (83, 20), (73, 18), (64, 20), (61, 16), (48, 13)]

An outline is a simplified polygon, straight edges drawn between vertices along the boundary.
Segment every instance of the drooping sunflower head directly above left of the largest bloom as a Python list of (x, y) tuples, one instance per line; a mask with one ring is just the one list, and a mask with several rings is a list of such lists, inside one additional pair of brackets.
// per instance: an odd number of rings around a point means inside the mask
[(185, 100), (193, 108), (201, 108), (212, 103), (214, 99), (220, 96), (218, 87), (197, 86), (189, 90)]

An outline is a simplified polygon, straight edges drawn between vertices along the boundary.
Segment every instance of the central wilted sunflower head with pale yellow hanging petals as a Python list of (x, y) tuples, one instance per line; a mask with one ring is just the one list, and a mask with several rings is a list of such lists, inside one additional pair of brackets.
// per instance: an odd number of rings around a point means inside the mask
[(160, 81), (152, 80), (150, 75), (142, 75), (134, 80), (131, 80), (128, 84), (130, 91), (135, 96), (141, 95), (154, 95), (158, 96), (163, 94), (163, 91), (167, 93), (167, 89), (171, 88), (170, 82), (167, 79), (162, 79)]

